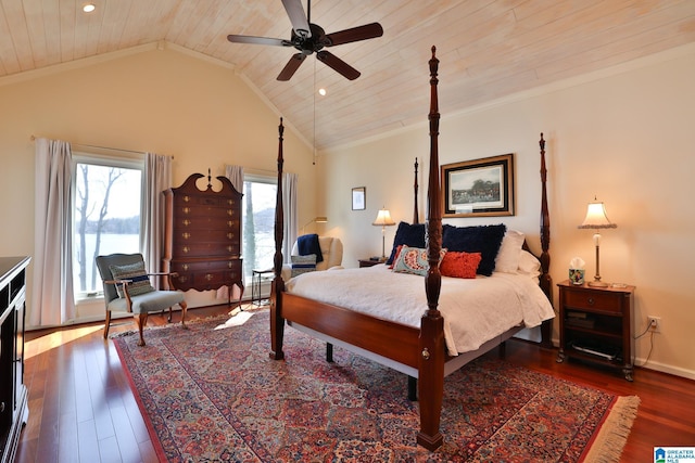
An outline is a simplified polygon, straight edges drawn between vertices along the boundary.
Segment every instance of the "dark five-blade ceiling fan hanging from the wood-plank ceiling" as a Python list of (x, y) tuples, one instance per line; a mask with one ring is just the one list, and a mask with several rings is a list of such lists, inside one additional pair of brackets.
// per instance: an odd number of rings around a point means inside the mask
[(356, 42), (359, 40), (374, 39), (383, 35), (383, 28), (379, 23), (365, 24), (364, 26), (339, 30), (326, 34), (324, 29), (311, 22), (312, 1), (306, 2), (306, 14), (302, 7), (302, 0), (282, 0), (282, 5), (292, 23), (292, 36), (290, 40), (273, 39), (268, 37), (237, 36), (230, 34), (227, 40), (232, 43), (254, 43), (276, 47), (294, 47), (299, 53), (292, 55), (285, 68), (278, 75), (278, 80), (290, 80), (306, 56), (316, 53), (316, 57), (327, 66), (354, 80), (359, 77), (359, 72), (336, 56), (331, 52), (324, 50), (327, 47), (334, 47), (343, 43)]

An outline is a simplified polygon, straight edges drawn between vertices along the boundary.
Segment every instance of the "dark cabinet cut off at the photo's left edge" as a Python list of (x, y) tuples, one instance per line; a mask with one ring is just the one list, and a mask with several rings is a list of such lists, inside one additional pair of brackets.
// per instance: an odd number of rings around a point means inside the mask
[(24, 385), (28, 257), (0, 257), (0, 462), (14, 461), (29, 410)]

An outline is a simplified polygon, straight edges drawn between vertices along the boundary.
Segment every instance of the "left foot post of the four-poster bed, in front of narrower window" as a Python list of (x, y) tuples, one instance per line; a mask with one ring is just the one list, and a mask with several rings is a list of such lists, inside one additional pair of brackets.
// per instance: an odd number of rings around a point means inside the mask
[(274, 360), (285, 359), (282, 351), (282, 337), (285, 336), (285, 319), (282, 318), (282, 231), (285, 227), (285, 214), (282, 210), (282, 118), (278, 126), (278, 189), (275, 197), (275, 255), (273, 257), (273, 270), (275, 278), (270, 283), (270, 353)]

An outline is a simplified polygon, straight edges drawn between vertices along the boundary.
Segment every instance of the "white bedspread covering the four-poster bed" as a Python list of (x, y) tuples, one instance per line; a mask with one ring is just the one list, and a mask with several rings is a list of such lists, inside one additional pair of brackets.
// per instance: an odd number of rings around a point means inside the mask
[[(286, 290), (418, 329), (427, 310), (425, 278), (394, 273), (384, 265), (304, 273)], [(513, 326), (538, 326), (555, 316), (535, 280), (509, 273), (475, 280), (442, 276), (439, 310), (451, 356), (476, 350)]]

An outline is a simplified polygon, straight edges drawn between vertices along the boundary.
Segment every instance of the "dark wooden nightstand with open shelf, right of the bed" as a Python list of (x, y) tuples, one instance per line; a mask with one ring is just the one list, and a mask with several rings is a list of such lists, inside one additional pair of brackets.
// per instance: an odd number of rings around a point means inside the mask
[(632, 297), (634, 286), (595, 287), (566, 280), (560, 291), (557, 362), (567, 357), (622, 369), (632, 381)]

